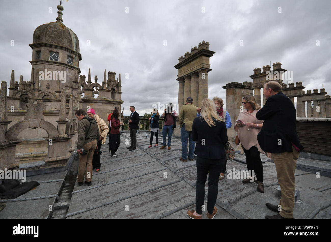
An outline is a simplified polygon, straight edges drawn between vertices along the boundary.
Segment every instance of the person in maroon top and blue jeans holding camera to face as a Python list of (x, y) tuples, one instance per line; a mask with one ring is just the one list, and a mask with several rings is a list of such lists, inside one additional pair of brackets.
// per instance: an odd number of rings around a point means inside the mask
[(163, 112), (161, 118), (164, 118), (165, 124), (162, 128), (162, 138), (163, 143), (160, 147), (160, 150), (164, 149), (166, 147), (166, 136), (168, 135), (168, 150), (171, 149), (171, 136), (173, 133), (173, 129), (176, 127), (176, 118), (178, 117), (178, 114), (173, 109), (172, 103), (169, 103)]

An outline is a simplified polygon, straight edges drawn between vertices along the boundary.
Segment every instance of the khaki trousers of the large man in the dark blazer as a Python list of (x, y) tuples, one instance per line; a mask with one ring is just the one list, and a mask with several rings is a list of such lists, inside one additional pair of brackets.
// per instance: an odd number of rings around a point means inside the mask
[(294, 172), (299, 158), (299, 152), (294, 147), (292, 149), (293, 152), (271, 153), (281, 190), (281, 199), (279, 201), (281, 210), (279, 215), (287, 219), (293, 218), (295, 194)]

